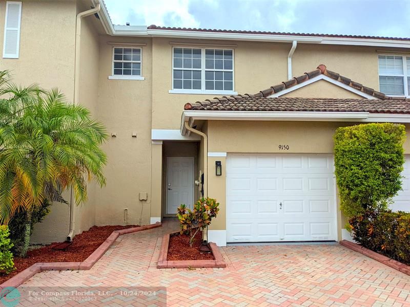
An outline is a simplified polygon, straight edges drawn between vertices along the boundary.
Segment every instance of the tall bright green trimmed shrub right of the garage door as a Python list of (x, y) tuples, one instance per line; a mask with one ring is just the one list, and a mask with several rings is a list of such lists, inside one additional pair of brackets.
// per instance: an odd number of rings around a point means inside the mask
[(345, 216), (388, 208), (401, 190), (405, 127), (370, 123), (339, 127), (334, 135), (335, 174)]

